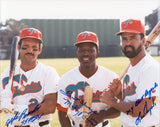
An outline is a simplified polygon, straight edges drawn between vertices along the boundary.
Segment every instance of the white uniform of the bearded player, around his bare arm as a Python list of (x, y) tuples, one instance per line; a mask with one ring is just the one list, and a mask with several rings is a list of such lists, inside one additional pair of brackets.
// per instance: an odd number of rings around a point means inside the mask
[[(123, 96), (125, 97), (123, 101), (133, 102), (152, 96), (156, 96), (157, 99), (153, 102), (151, 114), (148, 112), (143, 119), (122, 112), (120, 118), (123, 127), (148, 127), (159, 124), (159, 85), (160, 64), (150, 55), (147, 54), (138, 64), (129, 67), (123, 80)], [(147, 91), (150, 92), (147, 93)]]

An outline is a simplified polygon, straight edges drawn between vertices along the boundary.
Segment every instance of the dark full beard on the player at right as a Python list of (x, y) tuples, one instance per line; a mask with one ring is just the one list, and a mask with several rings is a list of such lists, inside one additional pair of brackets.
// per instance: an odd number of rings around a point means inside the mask
[[(127, 47), (132, 48), (132, 51), (126, 51)], [(142, 43), (138, 46), (137, 50), (133, 46), (128, 45), (125, 46), (124, 49), (122, 49), (122, 51), (126, 57), (134, 58), (142, 51)]]

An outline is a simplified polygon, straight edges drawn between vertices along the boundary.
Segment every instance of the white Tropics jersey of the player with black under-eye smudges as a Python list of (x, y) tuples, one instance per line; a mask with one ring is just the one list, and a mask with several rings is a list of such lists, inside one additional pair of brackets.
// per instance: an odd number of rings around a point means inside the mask
[[(2, 91), (7, 88), (9, 80), (8, 76), (9, 68), (4, 71), (1, 77)], [(57, 92), (58, 80), (59, 75), (56, 70), (40, 62), (38, 62), (34, 69), (27, 72), (23, 71), (18, 64), (15, 68), (13, 78), (13, 87), (15, 88), (15, 93), (13, 94), (14, 105), (28, 106), (30, 104), (34, 105), (41, 103), (45, 95)], [(20, 91), (20, 82), (25, 86), (24, 91)], [(14, 117), (14, 115), (8, 113), (6, 115), (6, 121), (11, 117)], [(51, 114), (42, 115), (39, 120), (35, 120), (33, 123), (45, 120), (51, 121)], [(21, 123), (21, 121), (19, 122)]]

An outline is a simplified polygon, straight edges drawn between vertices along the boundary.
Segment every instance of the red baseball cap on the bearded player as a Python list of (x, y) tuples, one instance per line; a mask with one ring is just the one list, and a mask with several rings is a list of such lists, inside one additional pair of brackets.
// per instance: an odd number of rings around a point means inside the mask
[(121, 31), (116, 33), (116, 35), (120, 35), (124, 32), (142, 33), (145, 35), (145, 27), (140, 20), (128, 19), (121, 23)]

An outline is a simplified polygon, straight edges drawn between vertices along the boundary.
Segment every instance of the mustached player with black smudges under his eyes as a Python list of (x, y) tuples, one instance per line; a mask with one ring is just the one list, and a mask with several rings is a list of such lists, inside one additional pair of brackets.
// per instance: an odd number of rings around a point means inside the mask
[(37, 60), (42, 45), (38, 29), (23, 29), (18, 43), (21, 62), (15, 68), (12, 88), (8, 86), (9, 68), (2, 74), (1, 108), (13, 108), (15, 112), (6, 114), (8, 127), (51, 127), (59, 75), (54, 68)]

